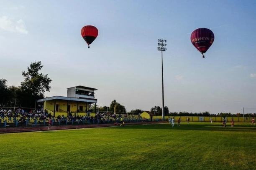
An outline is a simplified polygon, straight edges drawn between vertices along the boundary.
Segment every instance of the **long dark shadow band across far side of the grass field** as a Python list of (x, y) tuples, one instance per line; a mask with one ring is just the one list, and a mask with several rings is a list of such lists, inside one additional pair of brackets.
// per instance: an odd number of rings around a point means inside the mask
[(244, 131), (256, 131), (256, 126), (249, 126), (249, 125), (235, 125), (234, 127), (231, 127), (231, 125), (227, 125), (226, 129), (225, 127), (220, 127), (219, 125), (206, 125), (206, 124), (190, 124), (190, 125), (181, 125), (177, 126), (174, 125), (174, 128), (172, 128), (172, 125), (170, 124), (151, 124), (151, 125), (129, 125), (129, 126), (123, 126), (123, 127), (111, 127), (111, 128), (118, 128), (118, 129), (159, 129), (159, 130), (203, 130), (203, 131), (232, 131), (232, 132), (244, 132)]

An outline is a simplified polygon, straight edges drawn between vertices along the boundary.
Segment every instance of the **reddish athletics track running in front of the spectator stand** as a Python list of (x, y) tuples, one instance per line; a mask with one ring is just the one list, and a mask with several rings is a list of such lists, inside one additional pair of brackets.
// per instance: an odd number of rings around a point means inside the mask
[[(158, 124), (158, 123), (167, 123), (166, 121), (159, 122), (136, 122), (136, 123), (125, 123), (125, 125), (145, 125), (145, 124)], [(120, 126), (114, 124), (93, 124), (93, 125), (54, 125), (51, 126), (51, 130), (65, 130), (65, 129), (81, 129), (81, 128), (101, 128), (101, 127), (110, 127), (110, 126)], [(35, 127), (7, 127), (0, 128), (1, 133), (21, 133), (21, 132), (36, 132), (36, 131), (46, 131), (48, 126), (35, 126)]]

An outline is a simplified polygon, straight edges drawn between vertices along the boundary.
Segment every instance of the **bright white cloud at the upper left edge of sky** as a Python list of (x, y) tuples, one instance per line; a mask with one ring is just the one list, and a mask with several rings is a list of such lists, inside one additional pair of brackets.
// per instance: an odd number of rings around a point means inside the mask
[(7, 16), (0, 18), (0, 28), (9, 32), (28, 34), (23, 20), (13, 22)]

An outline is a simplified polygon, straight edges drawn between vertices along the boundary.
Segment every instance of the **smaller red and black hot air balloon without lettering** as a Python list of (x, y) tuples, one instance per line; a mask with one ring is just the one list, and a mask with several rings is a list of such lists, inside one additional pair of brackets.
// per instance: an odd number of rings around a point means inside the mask
[(84, 40), (87, 42), (88, 48), (90, 48), (90, 44), (98, 36), (98, 33), (99, 33), (98, 29), (92, 25), (87, 25), (82, 28), (81, 35), (84, 38)]

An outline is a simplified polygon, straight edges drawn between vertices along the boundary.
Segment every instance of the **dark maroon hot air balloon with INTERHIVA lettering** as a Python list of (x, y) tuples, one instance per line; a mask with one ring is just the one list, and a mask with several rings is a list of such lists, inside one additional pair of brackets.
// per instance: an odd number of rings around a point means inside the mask
[[(190, 40), (197, 50), (203, 55), (212, 45), (214, 41), (214, 34), (207, 28), (198, 28), (192, 32)], [(203, 58), (204, 57), (205, 55), (203, 55)]]

